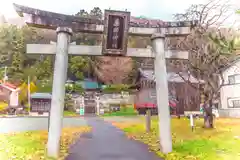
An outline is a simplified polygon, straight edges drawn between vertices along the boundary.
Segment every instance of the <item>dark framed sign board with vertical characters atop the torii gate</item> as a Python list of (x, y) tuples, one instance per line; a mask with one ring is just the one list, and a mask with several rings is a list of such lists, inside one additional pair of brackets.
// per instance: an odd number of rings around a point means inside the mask
[(102, 54), (124, 56), (127, 53), (130, 12), (105, 10)]

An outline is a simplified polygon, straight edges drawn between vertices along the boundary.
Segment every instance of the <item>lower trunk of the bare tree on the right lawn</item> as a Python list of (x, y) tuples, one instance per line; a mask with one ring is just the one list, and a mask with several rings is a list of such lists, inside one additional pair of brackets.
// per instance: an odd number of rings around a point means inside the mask
[(204, 128), (213, 128), (212, 100), (204, 107)]

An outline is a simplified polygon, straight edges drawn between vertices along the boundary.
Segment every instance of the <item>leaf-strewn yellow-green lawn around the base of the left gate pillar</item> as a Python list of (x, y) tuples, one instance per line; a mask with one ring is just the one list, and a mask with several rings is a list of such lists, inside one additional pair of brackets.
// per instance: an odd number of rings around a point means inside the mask
[[(60, 158), (68, 154), (69, 145), (90, 127), (64, 128), (61, 136)], [(33, 131), (13, 134), (0, 134), (1, 160), (52, 160), (46, 156), (47, 131)]]

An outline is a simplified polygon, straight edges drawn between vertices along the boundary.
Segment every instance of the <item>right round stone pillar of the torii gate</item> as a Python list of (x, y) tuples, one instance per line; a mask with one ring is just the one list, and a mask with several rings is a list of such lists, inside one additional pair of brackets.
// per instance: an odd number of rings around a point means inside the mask
[(153, 34), (151, 37), (152, 49), (155, 54), (154, 71), (156, 78), (160, 147), (161, 151), (167, 154), (172, 152), (172, 135), (171, 117), (168, 104), (168, 81), (164, 39), (165, 36), (161, 33)]

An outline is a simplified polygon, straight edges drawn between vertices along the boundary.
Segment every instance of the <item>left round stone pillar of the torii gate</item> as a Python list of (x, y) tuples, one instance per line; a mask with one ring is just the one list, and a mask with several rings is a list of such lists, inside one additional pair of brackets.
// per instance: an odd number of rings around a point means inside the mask
[(68, 68), (68, 48), (72, 29), (58, 27), (56, 58), (54, 65), (50, 126), (48, 132), (48, 156), (58, 157), (65, 97), (65, 82)]

